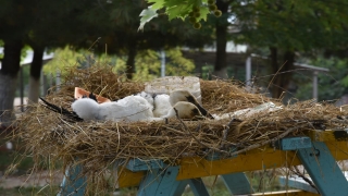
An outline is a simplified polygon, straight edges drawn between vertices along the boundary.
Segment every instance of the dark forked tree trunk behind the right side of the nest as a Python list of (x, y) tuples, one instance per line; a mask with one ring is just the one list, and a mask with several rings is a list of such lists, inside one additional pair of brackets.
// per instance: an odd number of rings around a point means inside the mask
[(272, 73), (275, 74), (271, 78), (271, 90), (273, 98), (281, 98), (283, 93), (287, 91), (288, 86), (291, 81), (293, 73), (289, 72), (294, 70), (295, 52), (285, 51), (283, 56), (283, 62), (277, 62), (277, 49), (275, 47), (270, 47), (271, 51), (271, 66)]

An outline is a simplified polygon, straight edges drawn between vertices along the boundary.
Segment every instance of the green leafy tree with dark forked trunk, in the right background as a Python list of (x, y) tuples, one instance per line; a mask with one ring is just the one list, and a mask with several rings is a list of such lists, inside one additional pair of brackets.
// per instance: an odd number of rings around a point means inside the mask
[[(322, 1), (250, 1), (238, 4), (236, 16), (240, 33), (237, 41), (269, 47), (272, 97), (287, 91), (291, 81), (296, 52), (314, 54), (325, 48), (347, 42), (345, 24), (338, 15), (347, 10)], [(279, 58), (282, 57), (282, 58)]]

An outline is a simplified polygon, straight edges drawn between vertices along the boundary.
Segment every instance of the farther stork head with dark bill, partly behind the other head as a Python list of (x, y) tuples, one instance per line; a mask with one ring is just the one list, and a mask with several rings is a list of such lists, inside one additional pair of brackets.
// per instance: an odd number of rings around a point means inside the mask
[(178, 101), (188, 101), (195, 105), (203, 117), (214, 119), (202, 106), (200, 106), (195, 96), (188, 90), (178, 89), (170, 94), (170, 102), (172, 106), (175, 106)]

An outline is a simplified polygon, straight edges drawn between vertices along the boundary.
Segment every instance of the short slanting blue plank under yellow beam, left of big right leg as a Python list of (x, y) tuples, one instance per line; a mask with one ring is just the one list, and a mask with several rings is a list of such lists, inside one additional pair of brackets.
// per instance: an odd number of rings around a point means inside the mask
[(221, 175), (225, 186), (233, 195), (252, 194), (254, 193), (250, 182), (245, 173), (231, 173)]

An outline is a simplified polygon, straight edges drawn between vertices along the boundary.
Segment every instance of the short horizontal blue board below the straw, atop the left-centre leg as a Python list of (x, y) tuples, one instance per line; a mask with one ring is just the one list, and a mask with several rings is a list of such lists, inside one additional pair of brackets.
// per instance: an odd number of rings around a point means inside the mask
[(126, 168), (133, 172), (148, 171), (153, 169), (163, 169), (165, 167), (166, 164), (159, 159), (151, 159), (151, 160), (130, 159), (126, 166)]

